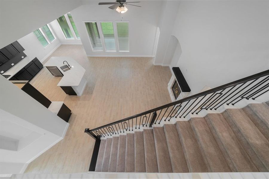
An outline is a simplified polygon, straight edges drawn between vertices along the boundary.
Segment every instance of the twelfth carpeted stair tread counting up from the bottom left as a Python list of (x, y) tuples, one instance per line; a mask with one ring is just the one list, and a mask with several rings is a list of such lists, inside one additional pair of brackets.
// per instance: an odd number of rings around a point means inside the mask
[(232, 172), (259, 172), (222, 114), (205, 119)]

